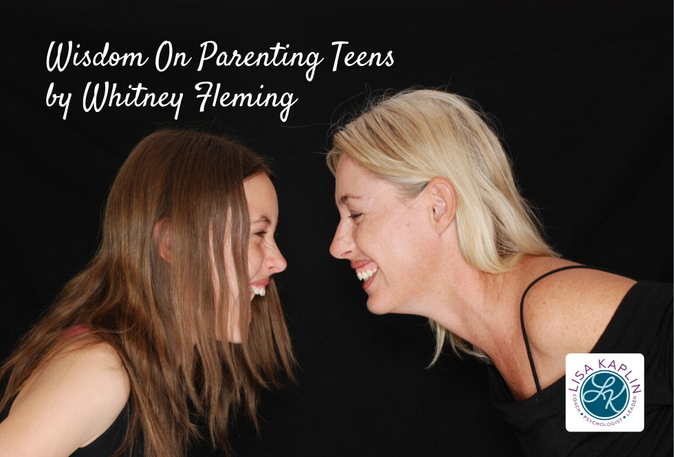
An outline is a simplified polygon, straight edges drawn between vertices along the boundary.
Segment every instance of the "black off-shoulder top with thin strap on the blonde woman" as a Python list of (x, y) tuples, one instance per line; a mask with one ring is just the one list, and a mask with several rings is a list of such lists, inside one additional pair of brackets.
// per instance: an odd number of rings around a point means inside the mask
[[(574, 265), (572, 268), (591, 267)], [(537, 278), (532, 285), (556, 271), (560, 269)], [(671, 456), (674, 452), (673, 323), (672, 285), (640, 281), (624, 296), (591, 350), (591, 353), (644, 355), (643, 432), (567, 432), (564, 377), (532, 397), (516, 401), (498, 370), (487, 365), (492, 403), (515, 428), (523, 450), (530, 456)], [(526, 333), (524, 324), (522, 331)], [(531, 355), (529, 357), (535, 380), (536, 367)]]

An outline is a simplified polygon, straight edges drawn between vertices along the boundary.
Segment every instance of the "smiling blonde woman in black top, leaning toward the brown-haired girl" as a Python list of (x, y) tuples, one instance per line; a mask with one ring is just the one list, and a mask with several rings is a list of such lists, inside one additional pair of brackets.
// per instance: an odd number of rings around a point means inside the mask
[[(375, 102), (336, 132), (327, 162), (340, 212), (330, 252), (349, 260), (368, 309), (428, 317), (434, 361), (446, 336), (486, 361), (528, 454), (671, 455), (671, 285), (560, 258), (466, 100), (418, 90)], [(590, 352), (644, 355), (642, 434), (565, 430), (565, 357)]]

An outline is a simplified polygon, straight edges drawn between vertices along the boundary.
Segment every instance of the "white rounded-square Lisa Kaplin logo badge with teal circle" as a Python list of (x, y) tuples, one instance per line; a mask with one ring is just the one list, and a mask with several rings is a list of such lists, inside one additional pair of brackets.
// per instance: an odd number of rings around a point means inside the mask
[(644, 430), (644, 356), (569, 354), (566, 357), (566, 430)]

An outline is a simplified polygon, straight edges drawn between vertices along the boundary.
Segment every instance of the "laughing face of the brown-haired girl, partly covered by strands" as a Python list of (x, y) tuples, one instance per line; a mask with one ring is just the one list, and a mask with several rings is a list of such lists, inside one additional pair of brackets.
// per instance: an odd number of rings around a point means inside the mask
[[(279, 221), (279, 201), (272, 181), (264, 173), (254, 175), (243, 181), (243, 190), (248, 203), (250, 218), (250, 236), (248, 238), (248, 293), (250, 300), (255, 296), (264, 296), (272, 274), (285, 270), (287, 263), (274, 241), (276, 223)], [(226, 243), (226, 269), (236, 271), (231, 249)], [(241, 342), (238, 306), (239, 287), (234, 275), (230, 278), (230, 306), (228, 315), (227, 339), (232, 343)], [(253, 319), (250, 311), (250, 319)]]

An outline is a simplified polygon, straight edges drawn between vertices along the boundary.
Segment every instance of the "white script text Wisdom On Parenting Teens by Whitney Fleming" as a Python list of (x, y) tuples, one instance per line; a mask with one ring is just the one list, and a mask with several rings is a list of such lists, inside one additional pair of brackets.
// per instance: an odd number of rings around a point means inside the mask
[[(348, 41), (333, 41), (334, 56), (331, 56), (332, 71), (338, 67), (391, 67), (393, 52), (354, 52), (349, 50)], [(221, 50), (215, 41), (204, 41), (199, 45), (198, 58), (173, 49), (171, 41), (164, 41), (155, 52), (154, 67), (160, 73), (170, 71), (173, 67), (194, 67), (202, 71), (207, 67), (305, 67), (305, 78), (308, 82), (314, 79), (316, 68), (325, 60), (318, 52), (291, 52), (290, 45), (275, 46), (263, 52), (242, 52), (236, 49)], [(194, 54), (195, 56), (197, 53)], [(109, 43), (98, 52), (83, 49), (79, 44), (58, 43), (52, 41), (47, 51), (47, 70), (73, 71), (69, 67), (143, 67), (151, 60), (151, 56), (141, 52), (125, 52), (121, 54), (110, 50)], [(224, 87), (220, 82), (200, 81), (194, 86), (195, 96), (199, 100), (199, 112), (210, 107), (279, 107), (279, 118), (285, 122), (290, 114), (290, 107), (298, 98), (292, 92), (265, 91), (260, 85), (257, 93), (239, 92)], [(112, 107), (173, 107), (173, 119), (180, 115), (180, 106), (184, 93), (151, 91), (142, 82), (130, 85), (118, 85), (110, 81), (89, 81), (84, 87), (82, 107), (85, 112), (99, 112)], [(59, 92), (54, 82), (47, 89), (47, 106), (58, 105), (63, 109), (63, 119), (67, 118), (72, 93)]]

